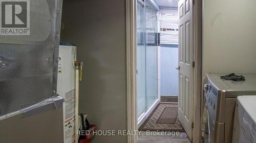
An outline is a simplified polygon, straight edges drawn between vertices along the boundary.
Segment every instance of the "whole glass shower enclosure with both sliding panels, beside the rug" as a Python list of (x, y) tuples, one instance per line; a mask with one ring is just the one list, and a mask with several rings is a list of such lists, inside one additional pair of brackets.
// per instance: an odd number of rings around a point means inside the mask
[(149, 1), (137, 2), (138, 117), (157, 100), (157, 9)]

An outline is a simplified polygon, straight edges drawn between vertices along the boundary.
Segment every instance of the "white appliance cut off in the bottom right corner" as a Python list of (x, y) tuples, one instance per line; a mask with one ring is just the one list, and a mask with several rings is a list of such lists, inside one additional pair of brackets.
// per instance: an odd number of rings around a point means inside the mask
[(234, 115), (232, 143), (256, 142), (256, 96), (239, 96)]

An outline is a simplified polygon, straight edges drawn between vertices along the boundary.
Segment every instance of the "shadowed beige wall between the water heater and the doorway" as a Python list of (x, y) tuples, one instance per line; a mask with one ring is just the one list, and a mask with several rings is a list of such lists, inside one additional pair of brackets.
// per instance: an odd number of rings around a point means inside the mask
[[(99, 130), (126, 130), (124, 0), (63, 0), (61, 41), (77, 44), (84, 62), (80, 112)], [(125, 143), (126, 136), (97, 136), (94, 143)]]

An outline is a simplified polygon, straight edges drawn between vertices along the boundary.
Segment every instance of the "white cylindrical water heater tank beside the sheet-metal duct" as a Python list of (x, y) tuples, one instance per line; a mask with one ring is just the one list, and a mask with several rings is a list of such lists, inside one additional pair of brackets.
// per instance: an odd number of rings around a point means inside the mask
[(64, 143), (75, 141), (75, 61), (76, 46), (60, 42), (57, 94), (63, 103)]

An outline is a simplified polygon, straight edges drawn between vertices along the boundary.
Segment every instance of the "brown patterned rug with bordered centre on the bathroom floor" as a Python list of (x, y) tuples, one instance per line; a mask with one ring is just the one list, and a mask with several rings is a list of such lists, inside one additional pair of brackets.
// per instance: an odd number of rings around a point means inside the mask
[(139, 130), (185, 132), (178, 119), (178, 104), (158, 104)]

